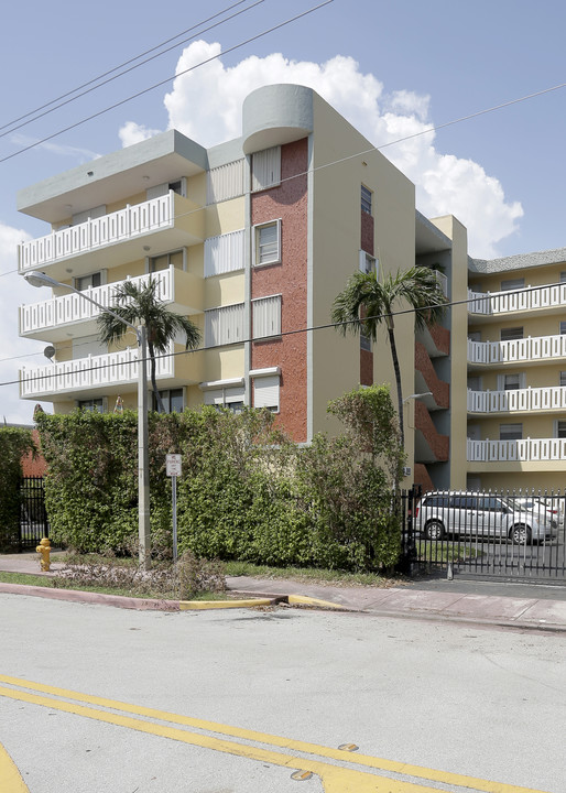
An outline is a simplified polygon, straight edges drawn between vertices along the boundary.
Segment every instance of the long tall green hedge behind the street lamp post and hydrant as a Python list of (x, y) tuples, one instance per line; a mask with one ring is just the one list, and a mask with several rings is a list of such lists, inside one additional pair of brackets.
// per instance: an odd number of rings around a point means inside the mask
[[(391, 446), (396, 422), (389, 391), (352, 392), (333, 403), (333, 412), (344, 417), (360, 405), (367, 412), (368, 404), (370, 435), (367, 421), (350, 420), (345, 435), (317, 436), (308, 447), (276, 432), (266, 411), (151, 413), (152, 546), (171, 544), (165, 455), (172, 452), (183, 459), (179, 552), (359, 571), (394, 564), (400, 530), (392, 510), (392, 471), (402, 456), (399, 444)], [(138, 534), (135, 413), (43, 414), (37, 423), (48, 466), (52, 540), (81, 552), (126, 552)]]

